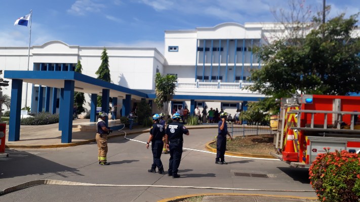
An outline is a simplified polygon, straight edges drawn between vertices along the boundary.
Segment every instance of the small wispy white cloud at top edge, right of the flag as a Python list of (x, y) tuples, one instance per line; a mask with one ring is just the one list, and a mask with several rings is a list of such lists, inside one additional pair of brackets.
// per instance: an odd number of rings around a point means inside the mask
[(72, 15), (83, 16), (86, 13), (100, 12), (103, 8), (105, 5), (94, 3), (93, 0), (76, 0), (67, 12)]

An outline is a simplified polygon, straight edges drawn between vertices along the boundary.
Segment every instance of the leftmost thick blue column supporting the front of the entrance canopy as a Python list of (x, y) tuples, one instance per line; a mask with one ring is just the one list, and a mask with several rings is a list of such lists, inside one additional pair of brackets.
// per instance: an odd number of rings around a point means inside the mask
[(20, 139), (21, 95), (22, 80), (13, 79), (11, 84), (9, 141), (18, 141)]

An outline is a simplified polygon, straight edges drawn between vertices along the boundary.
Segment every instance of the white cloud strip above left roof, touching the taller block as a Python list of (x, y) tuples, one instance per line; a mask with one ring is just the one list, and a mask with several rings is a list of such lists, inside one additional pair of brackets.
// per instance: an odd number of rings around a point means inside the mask
[(150, 41), (150, 40), (137, 40), (130, 43), (105, 41), (105, 42), (101, 42), (101, 44), (105, 44), (105, 46), (113, 46), (113, 47), (155, 47), (163, 55), (164, 55), (164, 45), (165, 45), (164, 41)]

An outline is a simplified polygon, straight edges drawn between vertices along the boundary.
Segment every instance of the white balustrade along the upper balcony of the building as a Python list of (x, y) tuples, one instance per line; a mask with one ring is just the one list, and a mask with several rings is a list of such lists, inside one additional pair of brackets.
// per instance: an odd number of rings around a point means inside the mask
[(218, 80), (217, 82), (176, 82), (177, 88), (182, 89), (229, 89), (229, 90), (241, 90), (247, 86), (253, 85), (252, 82), (244, 82), (239, 81), (236, 83), (228, 83), (228, 82), (221, 82)]

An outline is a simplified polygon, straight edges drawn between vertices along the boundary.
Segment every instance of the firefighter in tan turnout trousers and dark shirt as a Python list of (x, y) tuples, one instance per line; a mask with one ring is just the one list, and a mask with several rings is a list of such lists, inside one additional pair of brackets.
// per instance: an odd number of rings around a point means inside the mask
[(96, 132), (96, 142), (98, 144), (98, 160), (99, 164), (103, 166), (110, 165), (106, 161), (106, 154), (107, 154), (107, 135), (112, 132), (112, 129), (106, 126), (105, 120), (108, 117), (107, 113), (100, 112), (99, 119), (97, 122), (97, 132)]

